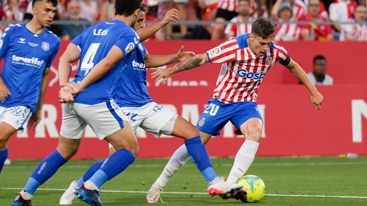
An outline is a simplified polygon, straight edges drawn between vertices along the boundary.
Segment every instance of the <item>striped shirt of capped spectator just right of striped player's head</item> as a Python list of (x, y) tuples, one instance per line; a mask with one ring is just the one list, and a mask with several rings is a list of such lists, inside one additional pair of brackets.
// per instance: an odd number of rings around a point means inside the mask
[[(280, 20), (279, 20), (280, 21)], [(295, 24), (278, 24), (276, 25), (274, 41), (297, 41), (301, 34), (301, 28)]]

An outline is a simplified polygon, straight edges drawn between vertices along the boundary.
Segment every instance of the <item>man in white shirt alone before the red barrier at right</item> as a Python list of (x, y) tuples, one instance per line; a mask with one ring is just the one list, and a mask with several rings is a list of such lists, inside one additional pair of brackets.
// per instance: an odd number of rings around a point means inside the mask
[(333, 85), (333, 77), (325, 73), (326, 59), (324, 56), (315, 56), (312, 67), (313, 72), (307, 73), (307, 76), (313, 85)]

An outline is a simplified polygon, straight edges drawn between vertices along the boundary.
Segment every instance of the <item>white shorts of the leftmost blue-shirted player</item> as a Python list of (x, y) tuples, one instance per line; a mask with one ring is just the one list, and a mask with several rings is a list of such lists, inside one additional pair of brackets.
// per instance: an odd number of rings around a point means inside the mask
[(0, 107), (0, 122), (6, 122), (16, 130), (22, 131), (27, 127), (32, 111), (27, 106)]

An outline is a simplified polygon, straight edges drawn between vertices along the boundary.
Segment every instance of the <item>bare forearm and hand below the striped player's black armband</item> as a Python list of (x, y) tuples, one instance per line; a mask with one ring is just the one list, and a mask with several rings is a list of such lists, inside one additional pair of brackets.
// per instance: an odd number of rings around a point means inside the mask
[(295, 61), (291, 59), (289, 64), (286, 66), (295, 77), (301, 81), (308, 91), (311, 93), (311, 102), (316, 109), (321, 109), (321, 104), (324, 97), (317, 91), (316, 87), (312, 84), (305, 71)]

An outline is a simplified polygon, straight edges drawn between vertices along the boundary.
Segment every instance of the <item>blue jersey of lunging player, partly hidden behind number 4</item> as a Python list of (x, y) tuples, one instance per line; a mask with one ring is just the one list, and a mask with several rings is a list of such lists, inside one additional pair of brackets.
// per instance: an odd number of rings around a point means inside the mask
[(146, 48), (143, 43), (132, 51), (132, 59), (112, 87), (113, 99), (120, 107), (141, 107), (153, 102), (146, 88)]

